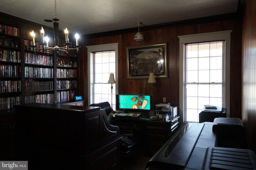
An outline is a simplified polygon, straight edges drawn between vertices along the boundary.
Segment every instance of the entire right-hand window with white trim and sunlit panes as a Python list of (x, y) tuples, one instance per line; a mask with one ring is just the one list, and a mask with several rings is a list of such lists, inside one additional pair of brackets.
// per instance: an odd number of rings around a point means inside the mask
[(220, 31), (179, 36), (180, 115), (199, 122), (204, 105), (229, 110), (230, 33)]

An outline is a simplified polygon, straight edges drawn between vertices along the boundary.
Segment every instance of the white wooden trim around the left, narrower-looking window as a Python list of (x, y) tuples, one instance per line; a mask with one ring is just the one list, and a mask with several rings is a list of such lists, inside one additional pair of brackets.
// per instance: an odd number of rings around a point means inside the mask
[(90, 55), (93, 52), (99, 52), (99, 51), (116, 51), (116, 94), (118, 94), (118, 43), (110, 43), (110, 44), (102, 44), (102, 45), (90, 45), (86, 46), (87, 48), (87, 67), (88, 67), (88, 106), (90, 103)]

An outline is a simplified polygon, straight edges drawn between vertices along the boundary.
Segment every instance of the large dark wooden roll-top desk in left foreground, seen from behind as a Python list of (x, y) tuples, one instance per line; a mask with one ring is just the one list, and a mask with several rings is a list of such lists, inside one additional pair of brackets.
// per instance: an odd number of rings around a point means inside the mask
[(100, 107), (16, 106), (15, 160), (29, 169), (118, 170), (120, 139)]

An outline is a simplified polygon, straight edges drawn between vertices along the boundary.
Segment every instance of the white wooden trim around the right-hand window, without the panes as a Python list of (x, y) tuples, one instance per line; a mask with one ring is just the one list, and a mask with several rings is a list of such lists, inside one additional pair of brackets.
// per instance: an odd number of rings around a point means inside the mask
[(225, 40), (226, 43), (226, 65), (225, 65), (225, 108), (227, 109), (227, 117), (230, 117), (230, 34), (232, 30), (228, 31), (217, 31), (211, 33), (200, 33), (200, 34), (192, 34), (192, 35), (181, 35), (178, 36), (180, 39), (180, 107), (179, 114), (180, 119), (184, 122), (184, 74), (183, 74), (183, 62), (184, 62), (184, 44), (186, 43), (198, 43), (204, 41), (218, 41)]

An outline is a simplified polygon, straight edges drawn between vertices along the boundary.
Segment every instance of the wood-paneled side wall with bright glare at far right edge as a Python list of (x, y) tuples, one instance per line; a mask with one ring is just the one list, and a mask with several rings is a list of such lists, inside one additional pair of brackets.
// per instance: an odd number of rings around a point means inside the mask
[(242, 31), (242, 122), (256, 152), (256, 1), (246, 0)]

